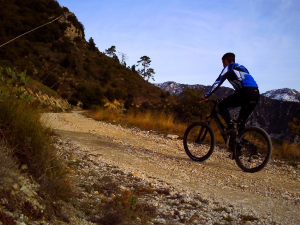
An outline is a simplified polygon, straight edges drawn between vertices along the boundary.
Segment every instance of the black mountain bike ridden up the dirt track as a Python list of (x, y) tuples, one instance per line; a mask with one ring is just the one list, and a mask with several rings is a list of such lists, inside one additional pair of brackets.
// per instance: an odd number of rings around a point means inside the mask
[[(213, 103), (210, 114), (204, 121), (189, 124), (184, 132), (183, 146), (188, 157), (195, 161), (204, 161), (212, 154), (215, 138), (209, 123), (213, 120), (227, 150), (231, 151), (230, 158), (235, 159), (236, 164), (246, 172), (261, 170), (268, 163), (272, 153), (272, 142), (267, 132), (260, 127), (250, 126), (239, 134), (224, 135), (225, 126), (216, 109), (220, 100), (208, 99), (208, 101)], [(232, 118), (232, 121), (237, 124), (236, 119)]]

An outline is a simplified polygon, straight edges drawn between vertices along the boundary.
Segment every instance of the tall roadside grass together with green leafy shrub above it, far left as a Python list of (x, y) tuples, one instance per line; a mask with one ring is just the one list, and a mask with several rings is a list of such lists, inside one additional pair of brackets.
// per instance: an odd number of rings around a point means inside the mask
[(27, 165), (45, 196), (66, 200), (72, 194), (72, 185), (54, 147), (52, 130), (29, 104), (32, 97), (25, 88), (28, 79), (26, 70), (6, 68), (4, 73), (0, 67), (0, 151), (4, 154), (4, 149), (9, 149), (6, 152), (18, 166)]

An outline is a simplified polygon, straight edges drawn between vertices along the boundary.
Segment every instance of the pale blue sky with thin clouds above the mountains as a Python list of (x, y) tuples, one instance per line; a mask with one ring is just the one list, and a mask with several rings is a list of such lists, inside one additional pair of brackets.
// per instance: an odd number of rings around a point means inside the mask
[(57, 1), (100, 51), (115, 45), (129, 66), (150, 57), (153, 83), (211, 85), (233, 52), (261, 93), (300, 91), (300, 0)]

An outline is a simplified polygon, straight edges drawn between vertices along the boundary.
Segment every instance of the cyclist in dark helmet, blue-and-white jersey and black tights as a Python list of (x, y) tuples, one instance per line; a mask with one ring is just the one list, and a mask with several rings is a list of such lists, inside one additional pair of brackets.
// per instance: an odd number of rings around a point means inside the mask
[[(228, 135), (236, 131), (240, 132), (245, 128), (246, 119), (259, 101), (259, 90), (249, 71), (243, 65), (235, 63), (235, 55), (233, 53), (225, 53), (222, 57), (222, 63), (224, 68), (209, 90), (204, 94), (202, 100), (206, 101), (207, 97), (216, 91), (226, 79), (233, 86), (235, 89), (234, 93), (218, 103), (218, 110), (227, 123), (227, 129), (223, 134)], [(238, 130), (236, 130), (230, 119), (228, 108), (239, 106), (241, 108), (237, 118)]]

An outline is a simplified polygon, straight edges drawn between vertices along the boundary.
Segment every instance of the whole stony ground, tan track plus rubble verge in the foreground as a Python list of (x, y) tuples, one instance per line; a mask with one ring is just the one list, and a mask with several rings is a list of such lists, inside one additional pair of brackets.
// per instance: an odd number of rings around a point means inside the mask
[[(104, 182), (99, 175), (106, 174), (117, 189), (148, 190), (138, 197), (153, 209), (150, 224), (300, 224), (299, 165), (271, 159), (263, 170), (246, 173), (222, 148), (196, 162), (185, 154), (182, 140), (151, 130), (95, 121), (76, 111), (47, 117), (74, 174), (78, 201), (89, 204), (88, 213), (66, 205), (65, 223), (103, 223), (96, 202), (117, 197), (111, 189), (99, 192)], [(116, 224), (113, 219), (106, 224)], [(144, 223), (141, 217), (134, 222)]]

